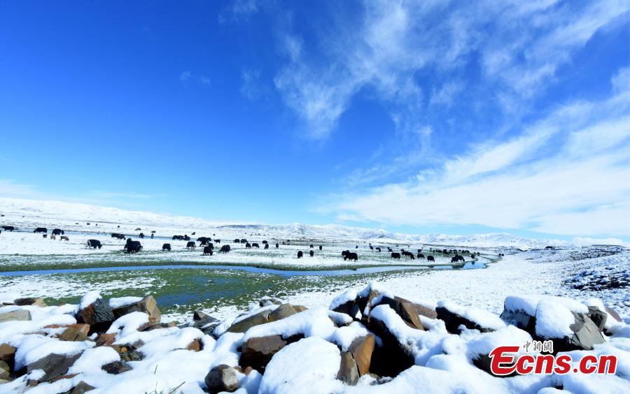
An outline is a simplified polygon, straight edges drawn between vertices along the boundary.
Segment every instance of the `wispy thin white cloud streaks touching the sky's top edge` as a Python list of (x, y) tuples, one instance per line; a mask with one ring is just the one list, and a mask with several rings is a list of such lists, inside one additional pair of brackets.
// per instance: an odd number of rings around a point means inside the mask
[[(574, 8), (578, 8), (575, 10)], [(461, 69), (468, 54), (481, 54), (486, 86), (498, 103), (517, 113), (553, 82), (571, 54), (629, 9), (624, 0), (580, 4), (556, 1), (365, 1), (358, 22), (344, 20), (304, 48), (296, 36), (282, 36), (288, 64), (274, 80), (286, 105), (325, 138), (364, 87), (391, 103), (400, 131), (423, 123), (423, 87), (418, 71), (440, 77)], [(321, 53), (304, 54), (320, 50)], [(465, 82), (430, 87), (429, 106), (448, 105)]]

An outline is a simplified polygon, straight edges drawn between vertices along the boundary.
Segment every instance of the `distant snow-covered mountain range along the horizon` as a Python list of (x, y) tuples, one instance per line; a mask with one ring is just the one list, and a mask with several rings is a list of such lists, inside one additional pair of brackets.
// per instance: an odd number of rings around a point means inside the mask
[[(362, 240), (377, 243), (414, 243), (427, 245), (453, 245), (470, 247), (512, 247), (533, 249), (547, 245), (563, 246), (569, 242), (560, 240), (540, 240), (523, 238), (509, 233), (488, 233), (477, 235), (423, 234), (409, 235), (393, 233), (381, 228), (362, 228), (339, 224), (226, 224), (207, 221), (197, 217), (174, 217), (153, 212), (120, 210), (83, 203), (61, 201), (27, 200), (20, 198), (0, 198), (0, 222), (24, 217), (28, 221), (52, 222), (92, 221), (102, 224), (127, 226), (162, 226), (190, 229), (216, 228), (224, 231), (244, 231), (247, 233), (268, 233), (286, 235), (288, 238), (332, 238), (342, 240)], [(22, 220), (25, 220), (22, 219)], [(7, 223), (8, 224), (8, 223)]]

